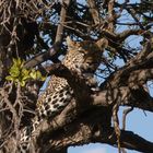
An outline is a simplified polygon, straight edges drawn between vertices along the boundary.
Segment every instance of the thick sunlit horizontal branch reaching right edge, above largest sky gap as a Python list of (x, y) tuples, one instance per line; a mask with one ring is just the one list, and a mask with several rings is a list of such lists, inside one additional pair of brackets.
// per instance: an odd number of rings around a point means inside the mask
[(109, 106), (114, 103), (113, 96), (122, 106), (138, 107), (153, 113), (153, 97), (151, 97), (149, 93), (142, 89), (130, 90), (129, 87), (119, 87), (115, 89), (110, 93), (102, 91), (98, 94), (93, 95), (93, 104)]

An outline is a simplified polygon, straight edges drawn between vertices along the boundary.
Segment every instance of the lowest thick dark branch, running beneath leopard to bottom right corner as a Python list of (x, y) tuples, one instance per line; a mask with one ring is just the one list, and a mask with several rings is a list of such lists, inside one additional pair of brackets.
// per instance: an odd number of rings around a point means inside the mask
[[(80, 116), (78, 120), (74, 120), (64, 129), (59, 129), (52, 133), (50, 133), (50, 131), (43, 133), (39, 143), (43, 145), (46, 144), (43, 146), (43, 150), (45, 150), (46, 153), (69, 145), (81, 145), (90, 142), (116, 145), (117, 141), (116, 136), (114, 134), (114, 128), (107, 127), (105, 121), (107, 121), (106, 109), (96, 109), (96, 111), (87, 114), (87, 118), (86, 114)], [(48, 140), (46, 136), (49, 136), (50, 139)], [(153, 143), (131, 131), (121, 130), (120, 140), (122, 148), (152, 153)]]

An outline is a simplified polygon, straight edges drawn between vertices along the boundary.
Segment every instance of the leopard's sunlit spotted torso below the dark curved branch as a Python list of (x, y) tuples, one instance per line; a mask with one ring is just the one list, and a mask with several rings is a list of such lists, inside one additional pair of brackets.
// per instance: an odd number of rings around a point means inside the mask
[(51, 119), (69, 104), (73, 97), (73, 91), (67, 80), (54, 78), (42, 96), (36, 109), (38, 118)]

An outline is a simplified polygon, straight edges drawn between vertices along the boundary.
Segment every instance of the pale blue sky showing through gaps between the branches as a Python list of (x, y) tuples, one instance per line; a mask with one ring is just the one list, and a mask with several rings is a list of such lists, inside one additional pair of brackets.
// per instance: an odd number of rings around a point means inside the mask
[[(80, 1), (83, 2), (84, 0), (80, 0)], [(122, 2), (122, 0), (119, 1)], [(130, 0), (130, 2), (134, 3), (140, 1)], [(129, 16), (125, 16), (125, 21), (127, 17)], [(130, 45), (136, 47), (139, 46), (140, 40), (141, 37), (137, 37), (137, 36), (132, 36), (128, 39), (128, 42), (131, 43)], [(150, 82), (150, 84), (152, 82)], [(153, 85), (152, 86), (150, 85), (150, 92), (153, 95), (152, 87)], [(121, 107), (119, 110), (120, 125), (121, 125), (122, 109), (123, 108)], [(149, 111), (145, 111), (144, 114), (143, 110), (136, 108), (127, 117), (127, 130), (131, 130), (134, 133), (143, 137), (144, 139), (153, 142), (153, 114)], [(118, 153), (118, 150), (107, 144), (91, 143), (83, 146), (69, 148), (68, 153)], [(139, 152), (127, 150), (127, 153), (139, 153)]]

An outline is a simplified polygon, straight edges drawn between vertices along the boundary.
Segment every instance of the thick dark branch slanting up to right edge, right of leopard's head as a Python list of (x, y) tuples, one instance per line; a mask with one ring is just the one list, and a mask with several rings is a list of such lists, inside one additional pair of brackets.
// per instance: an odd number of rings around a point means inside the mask
[[(127, 86), (130, 74), (137, 70), (152, 69), (153, 68), (153, 52), (152, 42), (148, 42), (143, 50), (132, 58), (126, 66), (120, 68), (101, 85), (102, 89)], [(145, 60), (144, 60), (145, 58)], [(140, 72), (139, 71), (139, 72)], [(151, 76), (150, 76), (151, 78)], [(144, 79), (144, 78), (143, 78)], [(130, 80), (130, 79), (129, 79)], [(137, 83), (137, 81), (134, 82)]]

